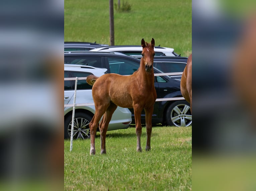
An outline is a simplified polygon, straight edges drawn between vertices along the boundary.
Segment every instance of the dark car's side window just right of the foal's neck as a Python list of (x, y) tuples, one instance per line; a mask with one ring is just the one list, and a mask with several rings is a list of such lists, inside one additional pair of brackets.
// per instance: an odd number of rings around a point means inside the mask
[(180, 63), (180, 62), (154, 62), (153, 66), (165, 73), (169, 73), (169, 72), (183, 72), (186, 64)]

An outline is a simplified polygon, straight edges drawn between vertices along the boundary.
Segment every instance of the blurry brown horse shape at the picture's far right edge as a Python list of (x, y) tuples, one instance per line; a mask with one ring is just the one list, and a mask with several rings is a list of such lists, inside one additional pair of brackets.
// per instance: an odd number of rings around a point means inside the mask
[[(240, 104), (248, 113), (250, 126), (256, 130), (256, 86), (255, 71), (256, 71), (256, 14), (250, 13), (246, 18), (241, 36), (237, 41), (236, 48), (231, 59), (231, 79), (232, 87), (234, 88), (235, 96), (239, 98)], [(243, 110), (241, 110), (243, 112)]]

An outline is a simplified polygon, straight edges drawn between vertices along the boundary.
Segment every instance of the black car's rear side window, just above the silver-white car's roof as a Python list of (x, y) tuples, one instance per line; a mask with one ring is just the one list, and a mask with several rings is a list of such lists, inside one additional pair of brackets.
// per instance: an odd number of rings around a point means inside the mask
[(80, 64), (102, 68), (101, 57), (65, 57), (64, 64)]

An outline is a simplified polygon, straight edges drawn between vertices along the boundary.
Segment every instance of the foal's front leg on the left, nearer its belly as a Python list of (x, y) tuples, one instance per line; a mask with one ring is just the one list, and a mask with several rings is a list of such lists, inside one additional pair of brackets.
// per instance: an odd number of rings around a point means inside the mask
[(140, 145), (140, 137), (142, 133), (142, 126), (141, 126), (141, 111), (140, 107), (133, 107), (134, 109), (134, 118), (135, 118), (135, 126), (136, 126), (136, 135), (137, 135), (137, 152), (142, 152), (141, 145)]

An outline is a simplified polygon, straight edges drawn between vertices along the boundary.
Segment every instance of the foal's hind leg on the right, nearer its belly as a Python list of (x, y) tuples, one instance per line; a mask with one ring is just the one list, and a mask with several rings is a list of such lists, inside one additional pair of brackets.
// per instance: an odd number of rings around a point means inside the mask
[(108, 130), (109, 122), (112, 118), (114, 111), (116, 110), (117, 105), (111, 103), (107, 108), (106, 112), (103, 115), (103, 119), (100, 123), (100, 132), (101, 132), (101, 154), (106, 154), (106, 134)]

